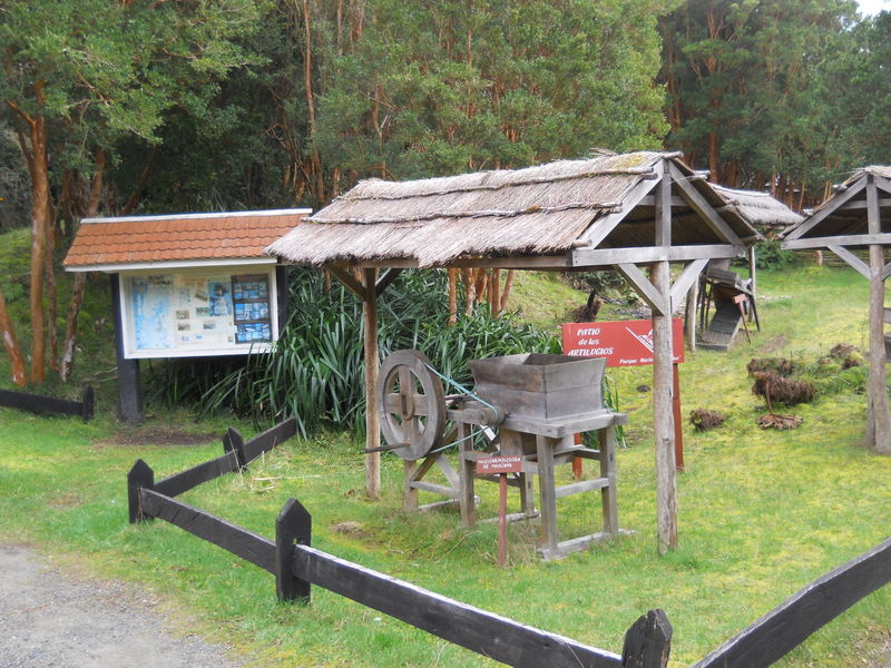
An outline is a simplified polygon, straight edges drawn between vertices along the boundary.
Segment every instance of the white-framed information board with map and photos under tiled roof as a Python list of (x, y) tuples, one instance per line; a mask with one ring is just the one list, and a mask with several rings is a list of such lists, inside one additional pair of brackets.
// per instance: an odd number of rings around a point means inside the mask
[(121, 274), (127, 358), (267, 352), (278, 337), (273, 267)]

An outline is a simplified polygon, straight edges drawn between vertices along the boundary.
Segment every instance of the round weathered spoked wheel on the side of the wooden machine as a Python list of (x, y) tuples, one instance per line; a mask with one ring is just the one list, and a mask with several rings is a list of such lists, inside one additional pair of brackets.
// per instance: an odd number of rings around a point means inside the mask
[(383, 361), (378, 376), (381, 432), (393, 452), (408, 461), (439, 445), (446, 430), (442, 383), (428, 365), (423, 353), (395, 351)]

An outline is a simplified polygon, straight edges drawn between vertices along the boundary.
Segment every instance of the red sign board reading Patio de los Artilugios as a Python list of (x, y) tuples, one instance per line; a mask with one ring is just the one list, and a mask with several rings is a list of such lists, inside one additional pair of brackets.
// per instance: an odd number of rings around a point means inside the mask
[[(653, 364), (653, 321), (564, 323), (564, 355), (606, 357), (607, 366)], [(672, 320), (673, 362), (684, 361), (684, 324)]]

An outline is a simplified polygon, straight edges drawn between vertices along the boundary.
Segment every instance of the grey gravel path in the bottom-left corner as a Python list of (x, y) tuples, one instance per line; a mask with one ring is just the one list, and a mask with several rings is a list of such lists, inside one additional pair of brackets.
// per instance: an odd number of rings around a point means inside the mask
[(60, 572), (0, 546), (0, 668), (237, 668), (226, 648), (180, 636), (149, 596)]

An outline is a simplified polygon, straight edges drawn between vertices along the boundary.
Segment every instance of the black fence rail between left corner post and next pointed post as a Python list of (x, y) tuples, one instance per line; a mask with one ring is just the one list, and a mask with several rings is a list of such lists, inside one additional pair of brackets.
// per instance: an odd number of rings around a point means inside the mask
[(149, 489), (139, 491), (139, 501), (147, 517), (166, 520), (275, 574), (275, 543), (267, 538)]

